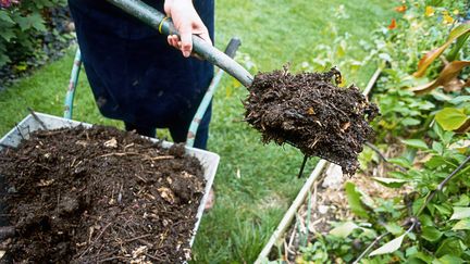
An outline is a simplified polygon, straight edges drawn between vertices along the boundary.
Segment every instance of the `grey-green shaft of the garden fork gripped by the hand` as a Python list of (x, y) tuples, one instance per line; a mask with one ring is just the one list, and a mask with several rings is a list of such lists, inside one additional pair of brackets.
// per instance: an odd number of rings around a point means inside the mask
[[(122, 9), (126, 13), (137, 17), (147, 25), (158, 29), (161, 34), (178, 35), (173, 22), (152, 7), (139, 0), (107, 0), (113, 5)], [(202, 40), (199, 36), (193, 35), (193, 50), (202, 59), (219, 66), (227, 74), (235, 77), (245, 87), (249, 87), (252, 83), (251, 74), (246, 71), (240, 64), (235, 62), (228, 55), (212, 47)]]

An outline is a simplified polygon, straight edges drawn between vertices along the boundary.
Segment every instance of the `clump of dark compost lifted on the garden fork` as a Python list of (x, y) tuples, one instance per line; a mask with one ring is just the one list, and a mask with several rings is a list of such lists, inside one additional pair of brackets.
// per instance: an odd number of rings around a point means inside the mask
[(356, 86), (339, 88), (341, 73), (290, 74), (287, 67), (255, 76), (245, 101), (245, 120), (262, 141), (290, 143), (308, 156), (320, 156), (354, 175), (362, 144), (373, 136), (369, 125), (379, 109)]

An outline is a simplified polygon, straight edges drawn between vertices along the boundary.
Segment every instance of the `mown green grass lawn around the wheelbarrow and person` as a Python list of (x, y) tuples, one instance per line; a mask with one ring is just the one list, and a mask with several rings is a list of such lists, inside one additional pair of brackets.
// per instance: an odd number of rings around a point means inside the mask
[[(339, 4), (345, 5), (349, 18), (336, 22), (331, 13)], [(258, 70), (281, 68), (286, 62), (298, 70), (300, 63), (316, 56), (312, 47), (333, 40), (321, 34), (329, 23), (336, 23), (339, 34), (350, 34), (348, 46), (359, 47), (359, 41), (367, 41), (380, 23), (389, 21), (393, 4), (381, 0), (218, 0), (217, 46), (223, 48), (232, 36), (238, 36), (243, 42), (240, 52), (249, 54)], [(351, 55), (360, 60), (364, 52), (357, 48)], [(28, 113), (27, 106), (62, 115), (72, 61), (73, 50), (0, 92), (1, 135)], [(373, 70), (374, 65), (368, 65), (347, 79), (363, 86)], [(246, 93), (245, 88), (225, 76), (215, 95), (209, 149), (221, 156), (214, 184), (217, 204), (199, 228), (194, 246), (196, 263), (256, 260), (305, 180), (296, 178), (302, 160), (297, 150), (263, 146), (259, 134), (242, 122), (240, 101)], [(74, 118), (122, 127), (100, 116), (84, 74)], [(311, 160), (306, 174), (313, 166)]]

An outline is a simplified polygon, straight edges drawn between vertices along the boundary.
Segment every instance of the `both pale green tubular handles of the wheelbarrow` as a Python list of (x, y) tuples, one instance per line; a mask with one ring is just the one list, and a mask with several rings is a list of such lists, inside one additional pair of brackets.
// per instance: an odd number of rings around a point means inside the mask
[[(225, 48), (224, 53), (227, 54), (230, 58), (234, 58), (236, 51), (238, 50), (238, 47), (242, 45), (242, 41), (234, 37), (230, 40), (228, 45)], [(73, 66), (72, 66), (72, 72), (71, 72), (71, 77), (70, 77), (70, 81), (69, 81), (69, 87), (67, 87), (67, 91), (65, 95), (65, 102), (64, 102), (64, 114), (63, 117), (67, 118), (67, 120), (72, 120), (73, 116), (73, 103), (74, 103), (74, 99), (75, 99), (75, 92), (76, 92), (76, 88), (78, 85), (78, 77), (79, 77), (79, 73), (82, 71), (82, 53), (79, 48), (76, 49), (75, 52), (75, 58), (74, 58), (74, 62), (73, 62)], [(222, 79), (222, 75), (223, 75), (224, 71), (221, 71), (220, 68), (217, 70), (214, 76), (212, 77), (212, 80), (201, 100), (201, 102), (199, 103), (199, 108), (196, 111), (196, 114), (193, 117), (193, 121), (189, 125), (189, 129), (186, 136), (186, 146), (187, 147), (193, 147), (194, 146), (194, 141), (196, 138), (196, 134), (199, 127), (199, 124), (202, 120), (202, 116), (205, 115), (212, 98), (213, 95), (215, 93), (220, 80)]]

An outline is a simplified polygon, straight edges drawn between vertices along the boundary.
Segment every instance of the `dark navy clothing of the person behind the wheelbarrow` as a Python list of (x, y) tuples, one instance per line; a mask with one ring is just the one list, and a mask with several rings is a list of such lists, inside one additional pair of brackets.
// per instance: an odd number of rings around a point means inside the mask
[[(144, 2), (163, 12), (163, 0)], [(143, 131), (170, 128), (174, 141), (185, 141), (213, 66), (185, 59), (157, 29), (107, 1), (69, 0), (69, 4), (100, 112)], [(194, 4), (213, 38), (213, 0), (195, 0)], [(210, 116), (208, 109), (195, 147), (206, 148)]]

